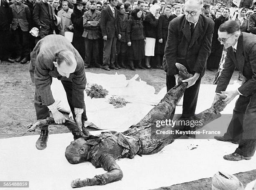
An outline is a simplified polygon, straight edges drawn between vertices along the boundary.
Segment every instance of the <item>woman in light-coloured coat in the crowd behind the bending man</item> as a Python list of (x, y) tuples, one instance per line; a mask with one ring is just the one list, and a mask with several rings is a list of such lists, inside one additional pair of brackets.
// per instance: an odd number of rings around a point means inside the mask
[(58, 17), (61, 18), (61, 30), (59, 30), (60, 35), (64, 35), (66, 28), (69, 30), (73, 29), (72, 21), (71, 21), (71, 14), (73, 10), (68, 7), (69, 1), (63, 0), (62, 1), (62, 9), (58, 12)]

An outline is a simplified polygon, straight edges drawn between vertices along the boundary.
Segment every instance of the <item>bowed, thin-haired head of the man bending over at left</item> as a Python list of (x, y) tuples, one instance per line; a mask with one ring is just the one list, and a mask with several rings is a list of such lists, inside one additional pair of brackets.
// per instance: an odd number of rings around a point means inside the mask
[(54, 66), (61, 76), (69, 78), (70, 73), (74, 73), (77, 68), (77, 61), (74, 53), (68, 50), (61, 50), (56, 53), (56, 61), (53, 62)]

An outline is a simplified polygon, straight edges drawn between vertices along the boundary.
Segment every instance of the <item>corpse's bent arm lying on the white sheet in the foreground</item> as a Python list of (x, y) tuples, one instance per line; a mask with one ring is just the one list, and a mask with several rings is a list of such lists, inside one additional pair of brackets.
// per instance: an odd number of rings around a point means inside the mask
[(105, 185), (107, 183), (119, 181), (123, 178), (123, 172), (115, 162), (115, 159), (109, 154), (100, 156), (99, 162), (104, 170), (108, 171), (105, 174), (96, 175), (93, 178), (84, 180), (76, 179), (71, 182), (71, 187), (85, 187), (92, 185)]

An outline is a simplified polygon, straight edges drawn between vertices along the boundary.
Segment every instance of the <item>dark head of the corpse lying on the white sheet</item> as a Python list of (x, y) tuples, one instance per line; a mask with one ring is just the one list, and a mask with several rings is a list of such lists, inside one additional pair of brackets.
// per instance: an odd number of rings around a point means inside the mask
[(72, 141), (66, 148), (65, 157), (70, 164), (78, 164), (87, 160), (90, 145), (83, 138)]

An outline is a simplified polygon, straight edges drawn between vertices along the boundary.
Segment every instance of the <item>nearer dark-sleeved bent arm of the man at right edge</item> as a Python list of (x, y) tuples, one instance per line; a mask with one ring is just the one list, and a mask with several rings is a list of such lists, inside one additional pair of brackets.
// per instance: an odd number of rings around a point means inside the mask
[(253, 45), (249, 52), (249, 61), (253, 76), (238, 88), (238, 91), (246, 97), (250, 96), (256, 89), (256, 45)]

